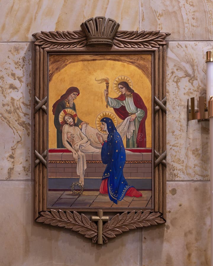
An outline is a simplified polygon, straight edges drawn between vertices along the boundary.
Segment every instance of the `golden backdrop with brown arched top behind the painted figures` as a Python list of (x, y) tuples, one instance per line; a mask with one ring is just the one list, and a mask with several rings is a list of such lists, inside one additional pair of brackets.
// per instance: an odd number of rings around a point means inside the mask
[[(57, 147), (52, 113), (54, 102), (69, 87), (78, 87), (80, 95), (75, 100), (78, 117), (96, 127), (95, 120), (99, 113), (114, 113), (114, 110), (106, 108), (105, 83), (98, 84), (95, 78), (108, 77), (109, 96), (116, 98), (119, 95), (113, 89), (113, 82), (118, 76), (128, 76), (132, 80), (133, 90), (141, 95), (147, 107), (146, 147), (151, 147), (151, 54), (50, 55), (49, 73), (49, 148)], [(117, 119), (118, 123), (122, 121), (119, 117)]]

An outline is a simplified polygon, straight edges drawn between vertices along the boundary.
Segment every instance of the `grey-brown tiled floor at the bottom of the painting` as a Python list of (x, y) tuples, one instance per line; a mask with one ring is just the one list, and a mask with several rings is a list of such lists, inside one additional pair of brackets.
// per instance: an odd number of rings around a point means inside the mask
[(81, 195), (70, 191), (49, 191), (49, 207), (151, 207), (151, 191), (141, 191), (142, 197), (124, 197), (118, 204), (109, 200), (108, 194), (84, 191)]

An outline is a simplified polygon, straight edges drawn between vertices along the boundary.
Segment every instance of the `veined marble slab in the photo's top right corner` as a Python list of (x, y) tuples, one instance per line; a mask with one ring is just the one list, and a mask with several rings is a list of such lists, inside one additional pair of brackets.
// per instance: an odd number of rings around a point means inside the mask
[(167, 40), (213, 39), (213, 1), (140, 0), (140, 30), (170, 32)]

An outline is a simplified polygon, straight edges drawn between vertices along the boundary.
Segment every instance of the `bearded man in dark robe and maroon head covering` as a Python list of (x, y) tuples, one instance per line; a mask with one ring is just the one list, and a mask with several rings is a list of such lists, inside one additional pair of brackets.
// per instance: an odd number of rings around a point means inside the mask
[[(59, 115), (64, 109), (72, 109), (76, 112), (74, 100), (80, 94), (80, 91), (77, 87), (70, 87), (67, 91), (57, 100), (52, 106), (52, 112), (54, 115), (54, 125), (57, 129), (57, 148), (65, 148), (62, 142), (62, 132), (61, 132), (61, 123), (59, 121)], [(86, 124), (79, 117), (75, 123), (76, 126), (82, 126)]]

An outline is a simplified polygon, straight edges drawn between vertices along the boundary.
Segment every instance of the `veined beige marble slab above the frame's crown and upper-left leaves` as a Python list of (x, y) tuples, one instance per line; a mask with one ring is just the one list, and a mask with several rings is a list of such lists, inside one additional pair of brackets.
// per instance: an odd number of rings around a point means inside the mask
[(85, 20), (110, 17), (120, 30), (138, 30), (138, 0), (1, 1), (0, 41), (32, 41), (41, 31), (80, 30)]

